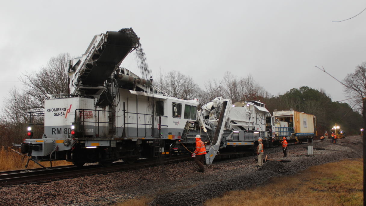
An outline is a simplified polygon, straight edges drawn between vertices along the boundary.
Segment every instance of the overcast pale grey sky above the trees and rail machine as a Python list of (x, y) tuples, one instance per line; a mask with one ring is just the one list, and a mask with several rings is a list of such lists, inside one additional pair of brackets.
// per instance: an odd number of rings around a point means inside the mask
[[(22, 86), (22, 72), (126, 27), (141, 37), (153, 77), (177, 70), (203, 87), (225, 71), (251, 73), (272, 95), (309, 86), (343, 100), (341, 85), (315, 66), (343, 80), (366, 61), (366, 11), (332, 22), (365, 8), (364, 0), (2, 1), (0, 101)], [(121, 66), (138, 74), (131, 57)]]

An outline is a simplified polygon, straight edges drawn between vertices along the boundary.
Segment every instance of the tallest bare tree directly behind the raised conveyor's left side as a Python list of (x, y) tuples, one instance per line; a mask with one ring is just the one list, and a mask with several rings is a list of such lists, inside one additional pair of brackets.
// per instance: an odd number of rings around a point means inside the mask
[(70, 93), (68, 78), (70, 60), (70, 54), (59, 54), (52, 57), (40, 71), (25, 72), (19, 78), (25, 85), (25, 93), (30, 97), (30, 110), (43, 109), (46, 94)]

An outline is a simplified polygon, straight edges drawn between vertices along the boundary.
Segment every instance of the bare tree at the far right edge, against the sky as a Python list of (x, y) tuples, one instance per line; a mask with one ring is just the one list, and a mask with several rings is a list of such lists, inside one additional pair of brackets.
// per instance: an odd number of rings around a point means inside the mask
[(358, 111), (362, 111), (362, 98), (366, 96), (366, 62), (356, 66), (354, 73), (347, 74), (343, 82), (343, 91), (348, 98), (352, 98), (350, 102), (357, 104)]

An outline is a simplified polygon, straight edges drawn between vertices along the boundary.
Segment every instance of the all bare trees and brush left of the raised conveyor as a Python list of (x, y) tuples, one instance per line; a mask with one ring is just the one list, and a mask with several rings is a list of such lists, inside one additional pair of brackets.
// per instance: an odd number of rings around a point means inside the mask
[[(27, 124), (30, 123), (30, 111), (42, 111), (46, 94), (69, 93), (68, 64), (69, 54), (52, 57), (39, 71), (26, 72), (19, 77), (25, 88), (12, 88), (9, 97), (4, 100), (1, 114), (1, 144), (10, 145), (22, 142), (26, 137)], [(35, 115), (33, 123), (42, 124), (43, 116)], [(40, 138), (42, 125), (34, 126), (34, 137)]]

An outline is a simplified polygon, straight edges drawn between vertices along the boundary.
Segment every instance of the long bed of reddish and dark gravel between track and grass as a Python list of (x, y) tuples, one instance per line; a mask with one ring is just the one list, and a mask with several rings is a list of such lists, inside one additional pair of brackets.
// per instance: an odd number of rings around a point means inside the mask
[[(343, 143), (342, 143), (343, 142)], [(360, 158), (362, 138), (347, 137), (337, 144), (314, 143), (314, 155), (306, 156), (306, 144), (291, 145), (287, 159), (292, 162), (267, 161), (256, 167), (252, 157), (215, 161), (197, 172), (193, 161), (175, 162), (121, 172), (93, 174), (40, 185), (16, 185), (0, 188), (0, 205), (111, 205), (137, 196), (157, 196), (151, 205), (202, 205), (225, 191), (262, 184), (270, 177), (289, 175), (309, 166)], [(281, 148), (267, 148), (269, 159), (284, 159)], [(291, 153), (294, 152), (294, 153)]]

